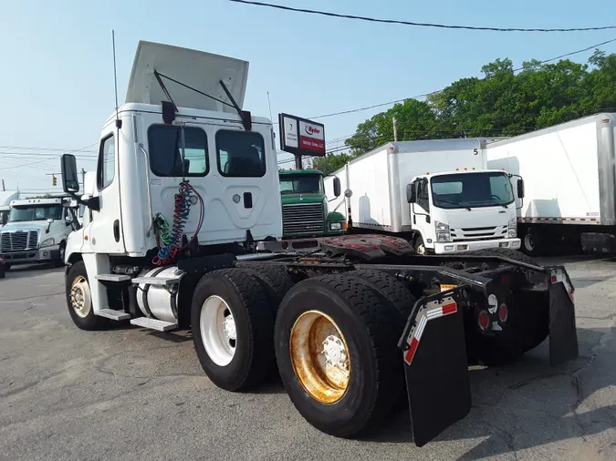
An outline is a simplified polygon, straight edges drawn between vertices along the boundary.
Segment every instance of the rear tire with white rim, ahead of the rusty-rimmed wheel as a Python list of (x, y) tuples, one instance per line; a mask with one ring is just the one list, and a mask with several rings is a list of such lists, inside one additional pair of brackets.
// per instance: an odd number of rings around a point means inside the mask
[(274, 316), (250, 271), (206, 273), (194, 289), (191, 321), (199, 362), (218, 387), (254, 388), (274, 367)]

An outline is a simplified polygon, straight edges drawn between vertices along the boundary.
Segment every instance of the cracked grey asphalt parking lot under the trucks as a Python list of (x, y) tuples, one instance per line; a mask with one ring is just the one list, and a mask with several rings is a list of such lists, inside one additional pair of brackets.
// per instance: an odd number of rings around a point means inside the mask
[(0, 280), (0, 459), (616, 459), (616, 261), (568, 257), (579, 359), (547, 342), (471, 374), (474, 406), (428, 446), (399, 414), (371, 438), (308, 425), (274, 380), (254, 394), (204, 376), (190, 333), (78, 330), (62, 269)]

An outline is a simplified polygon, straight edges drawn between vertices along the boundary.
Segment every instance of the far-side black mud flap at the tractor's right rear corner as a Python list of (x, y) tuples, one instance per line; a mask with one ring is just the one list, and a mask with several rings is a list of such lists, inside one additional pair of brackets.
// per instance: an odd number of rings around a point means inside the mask
[(550, 267), (549, 364), (563, 364), (579, 354), (573, 284), (563, 267)]

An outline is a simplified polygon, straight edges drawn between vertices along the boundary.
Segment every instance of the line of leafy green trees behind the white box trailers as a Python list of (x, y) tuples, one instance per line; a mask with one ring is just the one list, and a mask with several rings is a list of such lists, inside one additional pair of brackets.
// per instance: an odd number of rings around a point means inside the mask
[(496, 59), (484, 77), (461, 78), (425, 100), (406, 99), (358, 125), (348, 153), (314, 159), (325, 174), (393, 140), (512, 137), (598, 112), (616, 112), (616, 54), (600, 50), (586, 64), (536, 59), (514, 68)]

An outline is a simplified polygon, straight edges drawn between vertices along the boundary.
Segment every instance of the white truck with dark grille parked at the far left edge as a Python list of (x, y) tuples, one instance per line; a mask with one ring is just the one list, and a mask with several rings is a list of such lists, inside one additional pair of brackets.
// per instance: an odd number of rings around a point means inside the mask
[(11, 201), (6, 225), (0, 231), (0, 257), (6, 268), (34, 262), (64, 263), (72, 231), (67, 199)]

